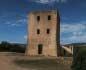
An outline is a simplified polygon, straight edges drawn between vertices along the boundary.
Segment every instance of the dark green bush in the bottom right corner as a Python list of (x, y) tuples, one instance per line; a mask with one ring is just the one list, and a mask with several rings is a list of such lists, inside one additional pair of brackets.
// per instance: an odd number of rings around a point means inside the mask
[(86, 46), (74, 47), (72, 70), (86, 70)]

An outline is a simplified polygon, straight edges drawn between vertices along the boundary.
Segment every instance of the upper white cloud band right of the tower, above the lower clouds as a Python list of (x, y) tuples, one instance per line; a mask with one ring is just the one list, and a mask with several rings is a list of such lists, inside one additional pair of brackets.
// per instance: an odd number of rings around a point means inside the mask
[(78, 32), (86, 29), (86, 22), (61, 24), (61, 32)]

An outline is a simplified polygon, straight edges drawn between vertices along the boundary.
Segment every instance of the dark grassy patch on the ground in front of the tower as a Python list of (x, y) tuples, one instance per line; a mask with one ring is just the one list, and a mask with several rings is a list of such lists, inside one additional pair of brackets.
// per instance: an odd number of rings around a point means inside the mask
[(15, 64), (31, 70), (70, 70), (69, 64), (58, 63), (57, 59), (16, 59)]

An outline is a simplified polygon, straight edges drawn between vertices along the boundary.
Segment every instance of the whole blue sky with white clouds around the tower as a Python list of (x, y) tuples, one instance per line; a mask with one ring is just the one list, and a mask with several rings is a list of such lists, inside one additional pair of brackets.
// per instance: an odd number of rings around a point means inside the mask
[(58, 9), (60, 43), (86, 43), (86, 0), (0, 0), (0, 42), (27, 43), (28, 13)]

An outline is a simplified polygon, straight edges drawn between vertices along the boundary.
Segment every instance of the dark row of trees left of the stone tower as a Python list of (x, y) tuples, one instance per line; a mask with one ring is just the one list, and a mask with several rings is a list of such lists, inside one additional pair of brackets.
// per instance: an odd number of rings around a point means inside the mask
[(23, 44), (12, 44), (3, 41), (0, 44), (0, 52), (19, 52), (24, 53), (25, 52), (25, 45)]

